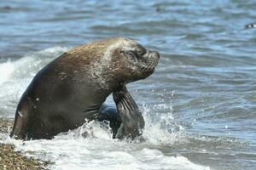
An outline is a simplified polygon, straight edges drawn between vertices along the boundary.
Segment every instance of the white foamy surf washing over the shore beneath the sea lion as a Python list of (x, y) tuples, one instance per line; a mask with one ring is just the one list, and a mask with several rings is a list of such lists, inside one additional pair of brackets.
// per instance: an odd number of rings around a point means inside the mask
[[(147, 122), (148, 123), (148, 122)], [(169, 137), (162, 143), (178, 142), (177, 136), (158, 130)], [(84, 132), (87, 137), (84, 138)], [(154, 136), (158, 138), (159, 136)], [(153, 138), (153, 137), (151, 137)], [(182, 138), (182, 137), (181, 137)], [(110, 129), (99, 122), (85, 123), (68, 133), (62, 133), (55, 139), (21, 141), (6, 139), (5, 142), (15, 144), (17, 150), (27, 156), (36, 156), (40, 159), (52, 161), (50, 169), (175, 169), (175, 170), (208, 170), (209, 167), (197, 165), (184, 156), (166, 156), (160, 150), (150, 148), (150, 141), (126, 142), (112, 139)]]

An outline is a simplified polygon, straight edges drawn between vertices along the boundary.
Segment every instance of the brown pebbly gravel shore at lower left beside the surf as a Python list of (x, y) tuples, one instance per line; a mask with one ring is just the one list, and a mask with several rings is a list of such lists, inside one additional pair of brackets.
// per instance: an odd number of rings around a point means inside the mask
[[(14, 120), (0, 118), (0, 133), (9, 133)], [(0, 138), (0, 169), (2, 170), (38, 170), (47, 169), (47, 161), (40, 161), (32, 157), (22, 156), (20, 151), (15, 151), (15, 145), (3, 144)]]

